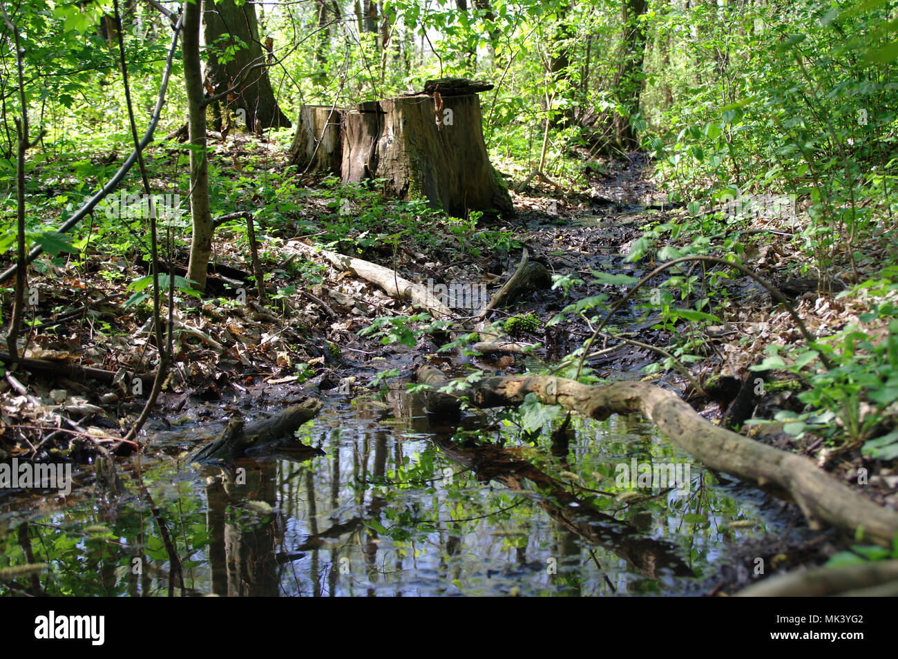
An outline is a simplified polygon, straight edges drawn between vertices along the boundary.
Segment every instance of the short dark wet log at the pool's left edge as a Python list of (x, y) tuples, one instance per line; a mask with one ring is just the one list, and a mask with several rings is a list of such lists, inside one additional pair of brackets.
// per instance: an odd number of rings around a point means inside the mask
[(321, 409), (321, 400), (305, 399), (263, 421), (243, 426), (241, 417), (233, 417), (222, 434), (189, 459), (189, 462), (230, 461), (249, 449), (260, 449), (293, 435), (296, 428), (313, 418)]

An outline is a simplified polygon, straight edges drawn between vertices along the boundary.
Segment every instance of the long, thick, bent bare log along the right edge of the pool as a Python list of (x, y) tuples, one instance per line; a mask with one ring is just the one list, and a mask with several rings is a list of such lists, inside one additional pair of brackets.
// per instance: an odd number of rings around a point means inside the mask
[[(446, 378), (436, 367), (422, 366), (418, 381), (440, 386)], [(455, 398), (444, 394), (433, 400), (438, 411), (457, 406), (460, 397), (480, 408), (502, 407), (521, 404), (528, 393), (544, 404), (600, 420), (639, 412), (710, 469), (795, 502), (812, 529), (828, 524), (852, 534), (860, 532), (865, 540), (885, 546), (891, 546), (898, 534), (898, 513), (876, 505), (813, 461), (715, 426), (673, 392), (647, 382), (589, 386), (551, 375), (491, 377), (463, 385), (453, 382)]]

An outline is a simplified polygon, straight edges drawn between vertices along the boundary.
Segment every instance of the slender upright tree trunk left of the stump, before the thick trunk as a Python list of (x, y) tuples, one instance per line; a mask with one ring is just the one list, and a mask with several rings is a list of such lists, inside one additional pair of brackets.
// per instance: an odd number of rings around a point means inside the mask
[(180, 42), (184, 60), (184, 87), (187, 91), (190, 143), (190, 215), (193, 239), (187, 277), (206, 289), (206, 267), (212, 254), (212, 213), (209, 210), (209, 172), (206, 151), (206, 105), (203, 72), (199, 60), (199, 3), (186, 3), (184, 36)]

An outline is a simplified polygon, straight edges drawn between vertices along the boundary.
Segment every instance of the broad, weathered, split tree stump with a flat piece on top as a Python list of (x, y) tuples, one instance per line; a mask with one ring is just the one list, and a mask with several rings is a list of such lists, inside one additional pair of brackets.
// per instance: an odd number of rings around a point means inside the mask
[(383, 179), (384, 192), (425, 199), (450, 215), (512, 215), (508, 190), (483, 140), (475, 91), (489, 85), (465, 82), (428, 81), (429, 92), (360, 103), (339, 110), (339, 121), (327, 121), (329, 108), (304, 107), (291, 149), (294, 163), (349, 183)]

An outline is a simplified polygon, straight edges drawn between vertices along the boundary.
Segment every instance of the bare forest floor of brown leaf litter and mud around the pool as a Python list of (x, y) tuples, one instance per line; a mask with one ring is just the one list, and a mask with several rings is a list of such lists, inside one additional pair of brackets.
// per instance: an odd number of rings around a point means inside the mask
[[(270, 145), (233, 143), (229, 156), (236, 160), (254, 149), (270, 151)], [(304, 182), (320, 185), (311, 179)], [(650, 163), (645, 156), (633, 154), (628, 161), (608, 163), (607, 173), (594, 173), (589, 186), (577, 194), (560, 195), (549, 187), (539, 189), (535, 185), (524, 194), (513, 192), (517, 215), (483, 227), (490, 232), (489, 242), (477, 242), (478, 232), (441, 233), (445, 227), (438, 223), (424, 227), (433, 236), (427, 243), (404, 239), (365, 242), (371, 220), (359, 224), (354, 235), (348, 236), (355, 239), (352, 245), (356, 248), (348, 253), (393, 268), (402, 277), (421, 283), (428, 279), (487, 282), (490, 293), (514, 272), (519, 248), (525, 246), (530, 258), (540, 261), (553, 275), (574, 280), (567, 290), (559, 286), (534, 291), (517, 300), (513, 308), (497, 312), (497, 319), (535, 314), (538, 326), (519, 328), (517, 337), (541, 343), (533, 356), (438, 353), (438, 333), (413, 337), (408, 341), (411, 345), (384, 345), (376, 336), (359, 336), (358, 332), (376, 317), (411, 316), (416, 310), (351, 274), (321, 268), (291, 252), (290, 241), (314, 238), (308, 231), (310, 226), (334, 222), (332, 198), (307, 197), (294, 212), (295, 223), (257, 228), (263, 236), (264, 268), (272, 274), (267, 283), (274, 295), (267, 306), (255, 299), (245, 235), (225, 225), (216, 233), (215, 260), (216, 265), (231, 269), (219, 268), (210, 277), (209, 294), (201, 302), (183, 303), (175, 310), (180, 331), (175, 338), (174, 365), (145, 426), (145, 435), (194, 423), (226, 422), (233, 415), (252, 417), (260, 410), (283, 407), (304, 395), (352, 395), (366, 388), (376, 389), (389, 379), (411, 379), (418, 366), (426, 362), (453, 374), (471, 367), (486, 373), (523, 373), (533, 365), (534, 357), (551, 364), (582, 346), (592, 327), (585, 321), (544, 327), (550, 318), (579, 299), (605, 294), (613, 301), (625, 291), (622, 286), (588, 283), (593, 271), (643, 277), (656, 265), (650, 254), (635, 263), (627, 261), (626, 256), (647, 225), (674, 222), (685, 215), (685, 209), (665, 206), (660, 197), (650, 177)], [(251, 208), (252, 198), (247, 203)], [(815, 286), (796, 283), (795, 275), (805, 264), (800, 251), (791, 247), (788, 225), (759, 220), (738, 231), (744, 236), (744, 263), (792, 293), (811, 332), (824, 327), (841, 329), (857, 322), (858, 316), (867, 311), (863, 298), (837, 299), (818, 294)], [(885, 249), (885, 242), (866, 245), (868, 261), (859, 267), (872, 271), (876, 250)], [(132, 294), (128, 281), (145, 275), (145, 266), (141, 269), (127, 255), (113, 255), (97, 245), (92, 245), (86, 258), (77, 263), (73, 260), (46, 266), (42, 271), (31, 268), (30, 286), (37, 288), (40, 300), (26, 319), (25, 356), (56, 365), (102, 369), (108, 373), (108, 382), (85, 380), (76, 371), (7, 373), (0, 380), (0, 460), (18, 457), (20, 461), (84, 463), (92, 460), (97, 446), (128, 453), (128, 446), (116, 439), (127, 432), (149, 391), (146, 382), (135, 393), (130, 375), (149, 373), (156, 354), (149, 333), (148, 305), (124, 306)], [(702, 274), (700, 267), (686, 269), (685, 277)], [(110, 272), (119, 274), (110, 277)], [(658, 285), (666, 277), (659, 276)], [(247, 303), (235, 298), (234, 289), (242, 286), (249, 292)], [(748, 368), (762, 361), (765, 347), (801, 340), (788, 313), (751, 279), (732, 277), (725, 287), (726, 320), (719, 324), (705, 329), (692, 329), (686, 323), (672, 326), (634, 304), (614, 316), (611, 328), (617, 338), (661, 348), (670, 346), (674, 333), (701, 332), (696, 350), (703, 358), (691, 365), (691, 372), (708, 385), (709, 396), (694, 391), (675, 370), (647, 376), (643, 368), (663, 360), (649, 347), (621, 343), (618, 349), (591, 358), (587, 365), (594, 375), (609, 381), (653, 379), (680, 393), (702, 416), (719, 419), (744, 379), (752, 376)], [(701, 294), (698, 290), (693, 295)], [(683, 301), (682, 306), (693, 299)], [(609, 345), (617, 344), (604, 344)], [(389, 377), (384, 378), (384, 373)], [(712, 386), (711, 382), (717, 384)], [(767, 387), (768, 392), (755, 401), (750, 416), (770, 418), (779, 409), (800, 408), (796, 386), (770, 378)], [(858, 469), (867, 469), (867, 496), (881, 505), (898, 508), (894, 462), (865, 459), (856, 445), (834, 450), (829, 442), (814, 435), (788, 435), (781, 424), (746, 426), (744, 432), (749, 427), (759, 441), (807, 455), (845, 481), (856, 482)], [(182, 445), (170, 443), (168, 450), (180, 453), (195, 448), (190, 444), (195, 440), (184, 441)], [(803, 523), (797, 509), (784, 514)], [(766, 549), (789, 554), (795, 565), (818, 564), (836, 547), (831, 540), (827, 536), (820, 543), (787, 548), (777, 545), (777, 539), (769, 539)], [(734, 550), (746, 556), (759, 551), (756, 546)], [(721, 583), (747, 579), (735, 572), (721, 575)]]

